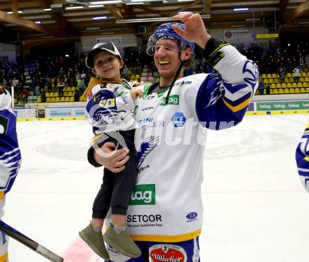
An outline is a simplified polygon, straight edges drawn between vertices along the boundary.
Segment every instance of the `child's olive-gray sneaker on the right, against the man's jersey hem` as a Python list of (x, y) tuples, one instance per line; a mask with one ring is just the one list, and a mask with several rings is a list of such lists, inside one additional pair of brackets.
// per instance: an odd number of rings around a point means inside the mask
[(111, 247), (119, 251), (119, 253), (129, 256), (131, 258), (137, 258), (142, 254), (138, 246), (133, 242), (127, 231), (117, 234), (114, 232), (114, 228), (111, 225), (110, 228), (103, 235), (103, 239)]

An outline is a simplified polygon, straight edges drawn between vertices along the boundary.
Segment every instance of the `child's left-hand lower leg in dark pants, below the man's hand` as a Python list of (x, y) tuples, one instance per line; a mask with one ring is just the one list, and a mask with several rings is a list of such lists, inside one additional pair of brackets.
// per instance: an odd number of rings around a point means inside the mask
[(110, 209), (110, 199), (114, 188), (115, 175), (108, 169), (104, 169), (103, 183), (96, 195), (92, 208), (91, 225), (102, 227), (108, 210)]

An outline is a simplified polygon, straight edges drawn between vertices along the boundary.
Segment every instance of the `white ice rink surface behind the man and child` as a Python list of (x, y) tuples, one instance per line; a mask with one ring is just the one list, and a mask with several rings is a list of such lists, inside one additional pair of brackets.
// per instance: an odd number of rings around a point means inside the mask
[[(202, 262), (308, 262), (309, 194), (295, 149), (309, 114), (246, 116), (208, 131)], [(103, 169), (88, 164), (86, 121), (18, 122), (22, 167), (4, 221), (65, 262), (98, 261), (78, 237), (91, 218)], [(11, 239), (10, 262), (45, 258)]]

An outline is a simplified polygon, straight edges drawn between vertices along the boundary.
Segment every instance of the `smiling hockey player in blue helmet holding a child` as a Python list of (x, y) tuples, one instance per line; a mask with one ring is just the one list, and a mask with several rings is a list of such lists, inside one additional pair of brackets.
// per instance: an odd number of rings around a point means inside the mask
[[(241, 122), (258, 87), (256, 63), (213, 39), (199, 14), (173, 18), (183, 23), (160, 25), (148, 41), (147, 53), (154, 56), (160, 80), (146, 84), (143, 99), (136, 103), (139, 173), (126, 221), (142, 255), (129, 261), (199, 261), (204, 130)], [(194, 43), (219, 74), (183, 77)], [(89, 155), (93, 165), (103, 164), (114, 172), (124, 169), (123, 150), (113, 157), (100, 157), (98, 152)], [(120, 259), (113, 256), (112, 261)]]

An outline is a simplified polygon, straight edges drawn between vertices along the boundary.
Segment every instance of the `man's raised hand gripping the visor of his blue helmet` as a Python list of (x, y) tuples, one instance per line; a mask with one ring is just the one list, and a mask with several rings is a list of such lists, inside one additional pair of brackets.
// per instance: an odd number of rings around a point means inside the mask
[(204, 22), (199, 13), (187, 12), (173, 15), (173, 19), (179, 19), (185, 24), (185, 30), (177, 25), (172, 25), (173, 30), (187, 41), (195, 42), (203, 49), (211, 35), (207, 33)]

